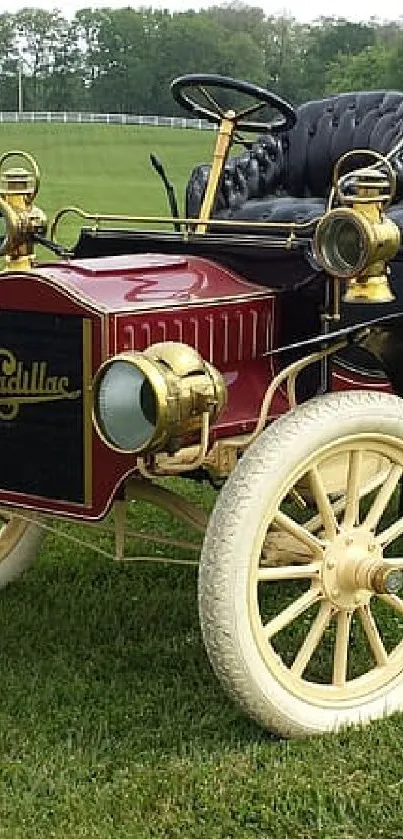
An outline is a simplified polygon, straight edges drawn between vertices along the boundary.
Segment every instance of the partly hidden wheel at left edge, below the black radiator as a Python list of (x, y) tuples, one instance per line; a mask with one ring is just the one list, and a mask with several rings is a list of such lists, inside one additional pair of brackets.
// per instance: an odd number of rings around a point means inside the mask
[(42, 532), (35, 519), (0, 509), (0, 589), (19, 577), (37, 556)]

